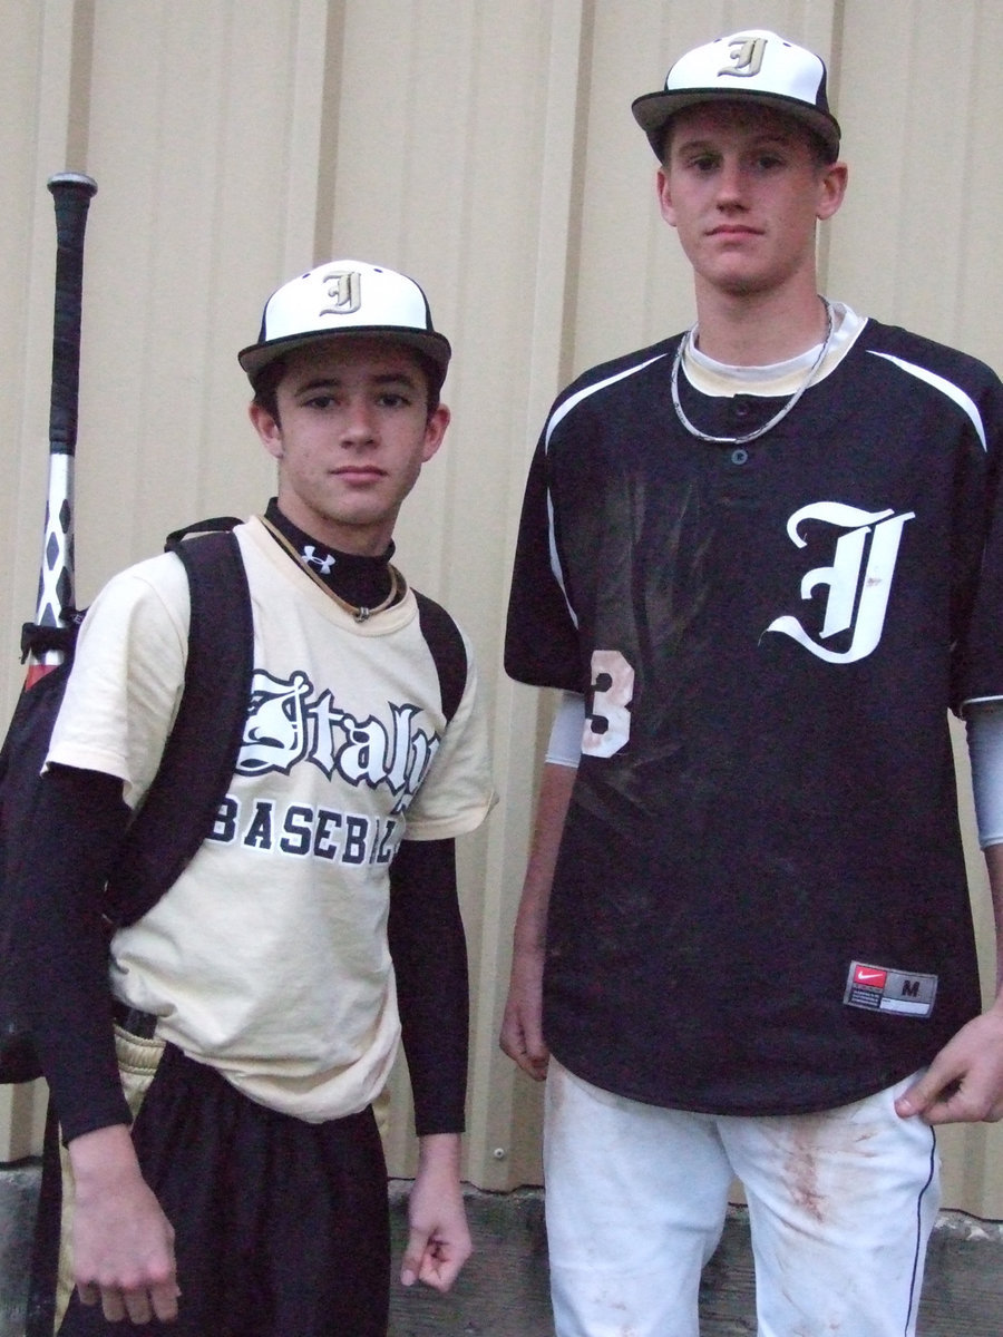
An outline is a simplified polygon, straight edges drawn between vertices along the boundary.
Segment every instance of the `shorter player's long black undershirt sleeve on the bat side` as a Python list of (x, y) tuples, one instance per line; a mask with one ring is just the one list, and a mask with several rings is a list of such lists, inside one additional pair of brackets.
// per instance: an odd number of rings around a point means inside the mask
[(39, 783), (20, 865), (24, 992), (63, 1140), (130, 1123), (108, 988), (103, 889), (128, 824), (122, 781), (53, 766)]

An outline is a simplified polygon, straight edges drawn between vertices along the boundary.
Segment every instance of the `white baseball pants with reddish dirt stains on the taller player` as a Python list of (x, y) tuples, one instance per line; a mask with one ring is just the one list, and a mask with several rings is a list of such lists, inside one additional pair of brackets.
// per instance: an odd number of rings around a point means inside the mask
[(556, 1337), (698, 1337), (699, 1274), (734, 1177), (758, 1337), (913, 1337), (940, 1187), (933, 1130), (893, 1108), (909, 1080), (822, 1114), (737, 1118), (627, 1100), (551, 1059)]

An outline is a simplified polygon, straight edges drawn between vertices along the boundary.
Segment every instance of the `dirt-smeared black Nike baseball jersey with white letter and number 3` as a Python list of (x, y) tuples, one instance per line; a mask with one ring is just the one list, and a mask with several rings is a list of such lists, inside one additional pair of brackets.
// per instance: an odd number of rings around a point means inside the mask
[[(506, 664), (586, 693), (544, 1029), (655, 1104), (832, 1107), (979, 1009), (947, 714), (1003, 697), (1003, 388), (839, 314), (761, 439), (682, 429), (667, 340), (570, 386), (531, 468)], [(742, 436), (802, 376), (683, 409)]]

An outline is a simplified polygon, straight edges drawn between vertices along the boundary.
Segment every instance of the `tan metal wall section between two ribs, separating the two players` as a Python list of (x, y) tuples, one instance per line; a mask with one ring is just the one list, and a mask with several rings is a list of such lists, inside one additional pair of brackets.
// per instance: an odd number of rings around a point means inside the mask
[[(524, 1139), (496, 1036), (539, 703), (524, 693), (514, 715), (500, 631), (530, 443), (559, 385), (579, 5), (349, 5), (344, 31), (330, 249), (416, 274), (455, 345), (453, 422), (397, 543), (403, 568), (472, 635), (497, 721), (504, 808), (460, 858), (475, 981), (468, 1173), (504, 1187), (523, 1174), (512, 1167)], [(395, 1090), (400, 1166), (412, 1152), (403, 1074)], [(524, 1173), (538, 1177), (535, 1140), (531, 1159)]]

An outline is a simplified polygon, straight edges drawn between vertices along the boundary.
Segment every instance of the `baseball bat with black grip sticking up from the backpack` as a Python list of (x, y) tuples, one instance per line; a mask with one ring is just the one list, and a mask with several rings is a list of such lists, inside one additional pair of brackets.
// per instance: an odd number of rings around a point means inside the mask
[(48, 189), (56, 209), (56, 290), (52, 314), (52, 390), (48, 418), (48, 497), (39, 567), (35, 624), (28, 638), (32, 686), (63, 659), (64, 615), (74, 611), (74, 465), (80, 385), (80, 314), (87, 210), (98, 183), (80, 172), (56, 172)]

